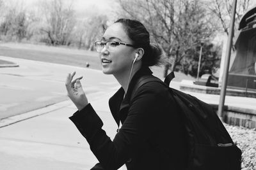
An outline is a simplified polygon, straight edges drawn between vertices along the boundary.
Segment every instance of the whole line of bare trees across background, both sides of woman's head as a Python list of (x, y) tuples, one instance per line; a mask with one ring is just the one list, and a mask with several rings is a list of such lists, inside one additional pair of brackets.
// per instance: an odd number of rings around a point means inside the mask
[[(22, 4), (8, 6), (0, 0), (0, 40), (28, 41), (46, 45), (76, 46), (94, 50), (109, 17), (104, 14), (76, 18), (76, 1), (40, 1), (33, 10)], [(150, 31), (151, 41), (161, 45), (168, 64), (165, 73), (182, 71), (196, 76), (200, 49), (200, 74), (220, 66), (221, 44), (213, 44), (218, 32), (228, 35), (232, 0), (118, 0), (118, 17), (140, 20)], [(255, 2), (254, 2), (255, 3)], [(252, 0), (238, 0), (236, 25)]]

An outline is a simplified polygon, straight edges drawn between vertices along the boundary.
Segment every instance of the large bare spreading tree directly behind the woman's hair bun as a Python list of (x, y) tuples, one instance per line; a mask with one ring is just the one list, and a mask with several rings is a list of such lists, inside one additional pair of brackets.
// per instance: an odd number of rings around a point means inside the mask
[[(171, 60), (171, 71), (180, 66), (188, 52), (211, 36), (209, 17), (199, 1), (189, 0), (120, 0), (123, 11), (132, 18), (141, 20), (150, 30), (154, 40), (163, 46)], [(166, 64), (164, 76), (169, 69)]]

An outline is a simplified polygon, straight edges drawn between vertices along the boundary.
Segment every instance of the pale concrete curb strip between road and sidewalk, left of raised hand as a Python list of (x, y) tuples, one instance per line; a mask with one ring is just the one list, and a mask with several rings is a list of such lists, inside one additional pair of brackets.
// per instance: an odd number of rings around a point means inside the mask
[(29, 118), (38, 117), (40, 115), (50, 113), (51, 111), (59, 110), (61, 108), (69, 106), (70, 104), (71, 104), (70, 101), (63, 101), (60, 103), (52, 104), (50, 106), (46, 106), (44, 108), (29, 111), (27, 113), (15, 115), (13, 117), (3, 118), (2, 120), (0, 120), (0, 128), (15, 124), (17, 122), (21, 122), (23, 120), (28, 120)]

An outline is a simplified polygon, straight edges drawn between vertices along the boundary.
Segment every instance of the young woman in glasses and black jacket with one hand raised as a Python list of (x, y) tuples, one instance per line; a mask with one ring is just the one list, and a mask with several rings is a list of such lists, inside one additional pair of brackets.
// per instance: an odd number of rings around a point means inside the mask
[(133, 92), (142, 76), (152, 74), (148, 67), (158, 64), (163, 55), (161, 48), (150, 44), (147, 29), (136, 20), (119, 19), (95, 47), (103, 73), (113, 74), (122, 86), (109, 99), (111, 113), (122, 127), (111, 141), (88, 103), (81, 77), (73, 80), (75, 73), (68, 74), (68, 96), (78, 109), (70, 120), (99, 160), (92, 169), (112, 170), (124, 164), (128, 170), (185, 169), (184, 127), (168, 88), (152, 81)]

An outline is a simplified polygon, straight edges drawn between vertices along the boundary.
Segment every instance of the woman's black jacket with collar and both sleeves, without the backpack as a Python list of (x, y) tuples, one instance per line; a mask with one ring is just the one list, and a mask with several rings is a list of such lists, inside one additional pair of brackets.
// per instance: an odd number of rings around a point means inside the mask
[(70, 117), (100, 162), (93, 170), (113, 170), (123, 164), (128, 170), (185, 168), (188, 154), (184, 127), (168, 88), (156, 81), (148, 82), (130, 99), (134, 85), (145, 74), (152, 72), (142, 68), (133, 76), (125, 98), (120, 88), (109, 99), (116, 124), (122, 122), (113, 141), (90, 104)]

